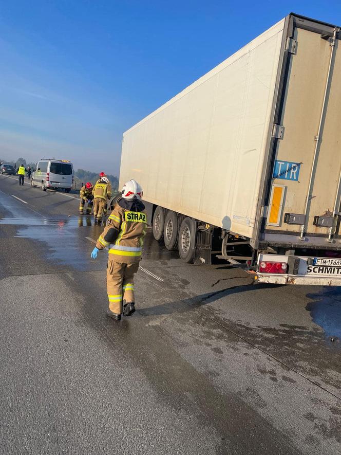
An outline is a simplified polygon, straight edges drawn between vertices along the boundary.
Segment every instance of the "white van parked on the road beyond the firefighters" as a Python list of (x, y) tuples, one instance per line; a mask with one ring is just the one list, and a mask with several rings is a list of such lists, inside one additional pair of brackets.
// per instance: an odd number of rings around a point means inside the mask
[(69, 193), (73, 184), (73, 166), (65, 159), (41, 159), (35, 165), (32, 173), (31, 186), (40, 187), (43, 191), (48, 188), (63, 188)]

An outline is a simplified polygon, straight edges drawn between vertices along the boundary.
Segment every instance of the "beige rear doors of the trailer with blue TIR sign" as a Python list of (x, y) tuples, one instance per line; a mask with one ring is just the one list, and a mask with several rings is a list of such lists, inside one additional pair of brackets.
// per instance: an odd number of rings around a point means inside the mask
[(328, 236), (331, 223), (336, 226), (335, 203), (339, 211), (341, 49), (338, 39), (332, 46), (330, 38), (303, 28), (294, 29), (293, 39), (281, 120), (273, 129), (278, 139), (266, 232), (304, 240)]

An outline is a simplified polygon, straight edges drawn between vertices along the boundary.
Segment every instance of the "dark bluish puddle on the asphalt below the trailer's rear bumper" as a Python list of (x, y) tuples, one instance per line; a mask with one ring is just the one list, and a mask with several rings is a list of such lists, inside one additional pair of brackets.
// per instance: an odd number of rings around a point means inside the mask
[(330, 345), (341, 349), (341, 289), (326, 287), (307, 297), (313, 300), (306, 306), (313, 322), (324, 330)]

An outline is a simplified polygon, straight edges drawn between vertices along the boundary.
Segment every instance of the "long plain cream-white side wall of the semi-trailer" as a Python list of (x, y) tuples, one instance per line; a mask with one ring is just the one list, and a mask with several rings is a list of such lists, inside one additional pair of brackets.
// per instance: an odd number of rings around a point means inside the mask
[(252, 236), (284, 20), (123, 136), (120, 185), (150, 203)]

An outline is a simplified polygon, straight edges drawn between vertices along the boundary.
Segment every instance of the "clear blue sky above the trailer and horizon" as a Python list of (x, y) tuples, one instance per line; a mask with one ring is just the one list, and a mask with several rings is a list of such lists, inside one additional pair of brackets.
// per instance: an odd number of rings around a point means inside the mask
[(118, 174), (122, 134), (289, 12), (326, 1), (27, 0), (0, 5), (0, 158)]

